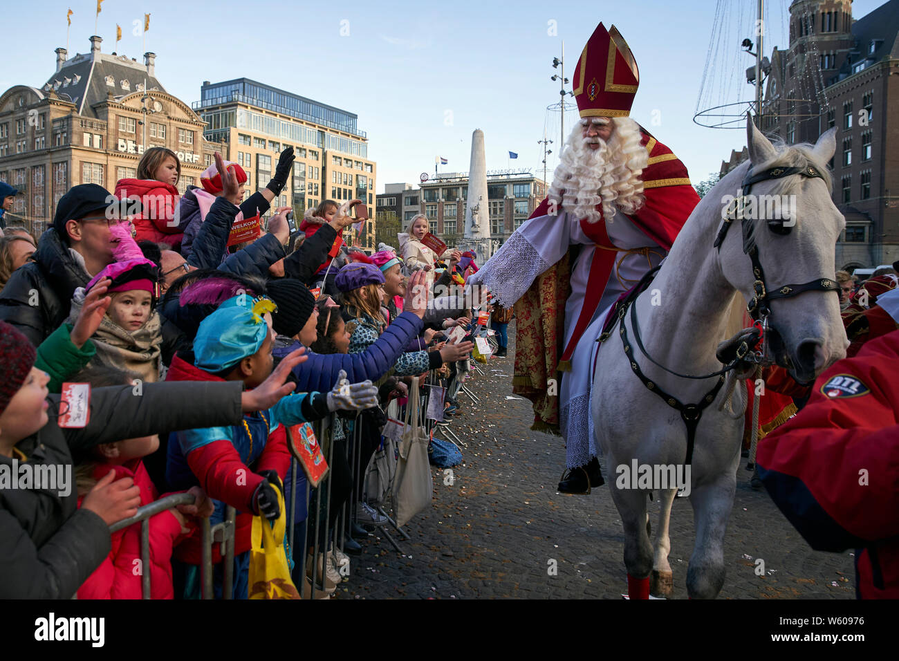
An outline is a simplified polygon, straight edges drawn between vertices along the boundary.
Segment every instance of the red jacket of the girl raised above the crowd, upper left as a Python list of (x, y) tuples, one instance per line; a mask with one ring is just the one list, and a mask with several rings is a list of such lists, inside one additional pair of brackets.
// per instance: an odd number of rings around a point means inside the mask
[(179, 227), (175, 210), (181, 194), (171, 183), (155, 179), (120, 179), (115, 184), (115, 196), (120, 200), (139, 199), (144, 210), (131, 217), (138, 231), (136, 241), (145, 239), (169, 246), (180, 246), (184, 230)]

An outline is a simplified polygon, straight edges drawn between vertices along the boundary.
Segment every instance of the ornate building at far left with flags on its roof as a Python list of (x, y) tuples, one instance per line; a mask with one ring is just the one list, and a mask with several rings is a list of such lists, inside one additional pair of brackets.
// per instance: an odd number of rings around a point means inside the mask
[[(101, 52), (68, 58), (56, 49), (56, 71), (40, 87), (14, 85), (0, 95), (0, 181), (22, 191), (7, 222), (39, 233), (57, 201), (78, 183), (115, 183), (136, 174), (148, 147), (181, 160), (178, 188), (200, 184), (220, 146), (203, 139), (204, 122), (156, 79), (154, 53), (143, 63)], [(145, 123), (146, 121), (146, 123)]]

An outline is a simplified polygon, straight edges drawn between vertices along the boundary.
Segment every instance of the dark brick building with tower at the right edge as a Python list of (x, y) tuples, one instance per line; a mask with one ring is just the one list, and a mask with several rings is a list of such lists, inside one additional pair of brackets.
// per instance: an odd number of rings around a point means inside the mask
[[(899, 259), (899, 0), (859, 20), (851, 0), (794, 0), (789, 12), (789, 48), (771, 55), (763, 129), (814, 143), (837, 127), (833, 201), (846, 218), (837, 267), (890, 264)], [(810, 100), (816, 80), (823, 94)]]

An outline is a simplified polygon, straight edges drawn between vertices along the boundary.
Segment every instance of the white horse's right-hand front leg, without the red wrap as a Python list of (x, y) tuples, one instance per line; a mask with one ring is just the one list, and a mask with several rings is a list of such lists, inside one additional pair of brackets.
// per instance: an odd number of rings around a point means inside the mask
[(694, 486), (690, 494), (696, 520), (696, 543), (687, 570), (690, 599), (714, 599), (725, 584), (725, 528), (735, 490), (736, 475), (728, 470)]

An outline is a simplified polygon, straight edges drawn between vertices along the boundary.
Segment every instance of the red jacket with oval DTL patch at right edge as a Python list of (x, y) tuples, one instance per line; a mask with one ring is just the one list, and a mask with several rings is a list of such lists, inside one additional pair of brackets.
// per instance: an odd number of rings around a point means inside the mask
[(899, 599), (899, 331), (825, 371), (756, 461), (813, 549), (858, 549), (860, 598)]

